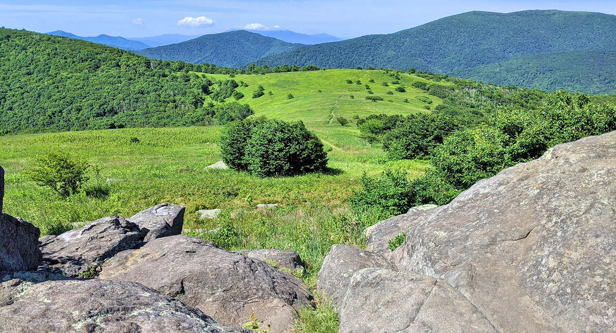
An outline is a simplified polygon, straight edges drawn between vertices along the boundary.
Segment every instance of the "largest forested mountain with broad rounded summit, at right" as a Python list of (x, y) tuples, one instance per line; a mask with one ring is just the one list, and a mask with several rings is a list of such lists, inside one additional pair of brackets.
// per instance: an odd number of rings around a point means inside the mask
[[(526, 55), (570, 50), (616, 50), (616, 17), (590, 12), (561, 12), (557, 10), (528, 10), (509, 14), (468, 12), (445, 17), (425, 25), (393, 34), (375, 34), (341, 42), (302, 46), (285, 54), (270, 55), (257, 64), (270, 66), (283, 63), (315, 64), (326, 68), (355, 68), (357, 66), (395, 69), (417, 68), (436, 73), (458, 74), (477, 66), (501, 63), (503, 71), (519, 73), (509, 75), (501, 84), (516, 84), (528, 79), (530, 70), (521, 71), (519, 63), (503, 63)], [(598, 68), (604, 57), (585, 55), (586, 68)], [(549, 75), (553, 66), (577, 64), (577, 60), (561, 55), (548, 68), (538, 68)], [(559, 63), (557, 61), (564, 61)], [(569, 62), (567, 62), (569, 61)], [(547, 65), (541, 60), (538, 66)], [(590, 73), (588, 81), (574, 83), (584, 90), (606, 94), (613, 91), (614, 77), (605, 82), (601, 73), (607, 71), (569, 68), (572, 75)], [(485, 71), (485, 76), (482, 75)], [(490, 69), (478, 69), (469, 78), (490, 81)], [(519, 76), (522, 76), (521, 78)], [(511, 81), (509, 81), (511, 79)], [(529, 87), (556, 90), (565, 87), (569, 76), (556, 75), (553, 79), (540, 79)]]

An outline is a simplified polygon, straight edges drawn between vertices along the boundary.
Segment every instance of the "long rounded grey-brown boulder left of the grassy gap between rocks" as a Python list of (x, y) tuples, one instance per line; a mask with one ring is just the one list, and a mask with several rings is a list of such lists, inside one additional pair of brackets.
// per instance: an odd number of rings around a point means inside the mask
[(312, 305), (301, 279), (183, 235), (120, 252), (105, 262), (99, 278), (144, 284), (230, 326), (247, 323), (254, 313), (271, 324), (272, 333), (289, 332), (299, 309)]

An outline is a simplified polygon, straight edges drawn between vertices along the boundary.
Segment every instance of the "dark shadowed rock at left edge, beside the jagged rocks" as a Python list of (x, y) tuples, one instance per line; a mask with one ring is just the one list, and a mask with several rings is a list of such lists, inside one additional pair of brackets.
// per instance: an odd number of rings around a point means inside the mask
[(36, 270), (41, 262), (40, 235), (32, 223), (0, 214), (0, 271)]

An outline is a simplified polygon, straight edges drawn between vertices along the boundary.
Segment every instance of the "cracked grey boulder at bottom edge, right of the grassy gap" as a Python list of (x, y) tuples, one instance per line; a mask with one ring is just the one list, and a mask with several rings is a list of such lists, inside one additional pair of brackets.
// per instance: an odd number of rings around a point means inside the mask
[(353, 275), (339, 333), (498, 333), (471, 302), (443, 281), (364, 268)]

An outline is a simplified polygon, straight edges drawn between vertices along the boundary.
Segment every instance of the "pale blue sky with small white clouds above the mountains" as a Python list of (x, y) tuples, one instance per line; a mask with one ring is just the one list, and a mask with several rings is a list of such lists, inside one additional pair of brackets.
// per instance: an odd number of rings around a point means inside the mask
[(0, 26), (80, 36), (208, 34), (230, 29), (288, 29), (344, 38), (392, 33), (471, 10), (582, 10), (616, 14), (616, 0), (0, 0)]

